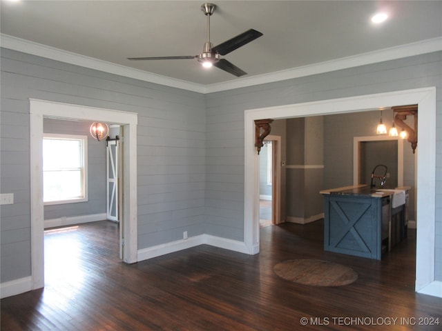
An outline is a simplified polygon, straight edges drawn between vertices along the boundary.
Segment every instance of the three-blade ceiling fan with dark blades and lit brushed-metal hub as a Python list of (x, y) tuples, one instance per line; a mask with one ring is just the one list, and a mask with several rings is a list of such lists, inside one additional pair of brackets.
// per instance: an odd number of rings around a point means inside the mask
[(204, 49), (202, 53), (197, 55), (184, 55), (178, 57), (129, 57), (128, 60), (176, 60), (176, 59), (197, 59), (198, 62), (202, 63), (202, 66), (210, 68), (215, 66), (221, 70), (227, 71), (230, 74), (240, 77), (247, 74), (244, 70), (241, 70), (233, 63), (227, 61), (226, 59), (220, 59), (220, 55), (229, 54), (233, 50), (244, 46), (245, 44), (255, 40), (262, 36), (262, 33), (253, 29), (242, 32), (238, 36), (220, 43), (220, 45), (213, 47), (213, 43), (210, 42), (210, 17), (215, 10), (216, 5), (213, 3), (203, 3), (201, 6), (202, 12), (207, 17), (207, 41), (204, 43)]

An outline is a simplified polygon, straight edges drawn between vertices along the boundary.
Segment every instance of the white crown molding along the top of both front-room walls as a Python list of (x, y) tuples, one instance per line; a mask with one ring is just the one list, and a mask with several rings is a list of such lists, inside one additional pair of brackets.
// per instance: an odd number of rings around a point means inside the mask
[(276, 81), (284, 81), (287, 79), (294, 79), (299, 77), (306, 77), (312, 74), (321, 74), (324, 72), (365, 66), (367, 64), (401, 59), (404, 57), (412, 57), (415, 55), (442, 50), (442, 37), (436, 37), (433, 39), (418, 41), (416, 43), (407, 43), (401, 46), (357, 54), (351, 57), (344, 57), (332, 61), (314, 63), (309, 66), (291, 68), (278, 72), (271, 72), (269, 74), (260, 74), (252, 77), (240, 78), (233, 81), (225, 81), (222, 83), (215, 83), (204, 86), (197, 83), (191, 83), (189, 81), (182, 81), (180, 79), (165, 77), (160, 74), (153, 74), (151, 72), (128, 68), (126, 66), (121, 66), (115, 63), (110, 63), (91, 57), (85, 57), (84, 55), (67, 52), (65, 50), (59, 50), (58, 48), (52, 48), (40, 43), (34, 43), (25, 39), (11, 37), (7, 34), (0, 34), (0, 37), (1, 47), (8, 48), (10, 50), (17, 50), (19, 52), (37, 55), (39, 57), (45, 57), (56, 61), (74, 64), (76, 66), (82, 66), (93, 70), (100, 70), (103, 72), (109, 72), (111, 74), (118, 74), (124, 77), (139, 79), (141, 81), (148, 81), (150, 83), (157, 83), (172, 88), (180, 88), (182, 90), (189, 90), (202, 94), (233, 90), (236, 88), (245, 88), (248, 86), (256, 86), (260, 84), (273, 83)]

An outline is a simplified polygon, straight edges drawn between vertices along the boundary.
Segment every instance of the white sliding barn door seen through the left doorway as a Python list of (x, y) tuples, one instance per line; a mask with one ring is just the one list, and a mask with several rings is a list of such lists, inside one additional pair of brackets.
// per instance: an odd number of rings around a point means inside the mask
[(106, 217), (118, 219), (118, 141), (107, 141), (106, 148)]

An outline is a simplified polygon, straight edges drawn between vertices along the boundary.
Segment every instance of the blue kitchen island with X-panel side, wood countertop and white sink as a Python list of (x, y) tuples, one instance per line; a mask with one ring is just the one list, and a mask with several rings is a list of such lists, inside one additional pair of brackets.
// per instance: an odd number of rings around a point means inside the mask
[(408, 190), (354, 185), (320, 191), (324, 197), (324, 249), (380, 260), (407, 236)]

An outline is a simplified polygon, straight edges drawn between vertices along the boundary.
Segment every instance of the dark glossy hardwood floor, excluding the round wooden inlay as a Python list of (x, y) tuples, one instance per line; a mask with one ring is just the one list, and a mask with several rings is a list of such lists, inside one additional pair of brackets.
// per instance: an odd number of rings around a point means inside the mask
[[(260, 239), (254, 256), (201, 245), (126, 265), (115, 223), (50, 230), (46, 287), (2, 299), (1, 330), (442, 328), (442, 299), (414, 292), (413, 230), (382, 261), (324, 252), (323, 221), (261, 228)], [(298, 285), (273, 272), (286, 259), (342, 263), (358, 279), (341, 287)], [(439, 325), (425, 325), (437, 319)]]

